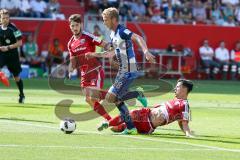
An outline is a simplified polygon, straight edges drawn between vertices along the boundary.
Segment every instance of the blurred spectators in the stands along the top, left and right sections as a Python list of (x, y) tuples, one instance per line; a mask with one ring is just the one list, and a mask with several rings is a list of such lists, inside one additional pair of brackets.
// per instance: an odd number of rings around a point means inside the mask
[[(121, 20), (237, 26), (239, 0), (78, 0), (86, 13), (101, 14), (108, 7), (119, 9)], [(1, 0), (0, 8), (11, 16), (65, 19), (58, 0)]]

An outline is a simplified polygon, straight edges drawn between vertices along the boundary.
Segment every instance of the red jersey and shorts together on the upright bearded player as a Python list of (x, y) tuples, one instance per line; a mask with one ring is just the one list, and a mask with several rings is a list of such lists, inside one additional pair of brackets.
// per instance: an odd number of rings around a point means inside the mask
[(101, 45), (102, 40), (98, 37), (82, 32), (82, 35), (75, 39), (74, 36), (68, 42), (68, 51), (71, 57), (78, 57), (77, 67), (81, 70), (81, 86), (98, 86), (102, 88), (104, 72), (102, 62), (98, 58), (85, 58), (88, 52), (95, 52), (96, 46)]

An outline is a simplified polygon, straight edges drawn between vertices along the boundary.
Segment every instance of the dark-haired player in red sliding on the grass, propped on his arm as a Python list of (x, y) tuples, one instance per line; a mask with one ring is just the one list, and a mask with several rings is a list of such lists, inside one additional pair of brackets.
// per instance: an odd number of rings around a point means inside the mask
[[(194, 137), (189, 128), (190, 108), (188, 104), (188, 94), (192, 91), (193, 83), (189, 80), (180, 79), (175, 87), (175, 98), (154, 108), (142, 108), (132, 110), (131, 118), (138, 133), (151, 134), (158, 126), (170, 124), (178, 121), (179, 127), (187, 137)], [(112, 118), (109, 122), (103, 122), (98, 130), (115, 127), (124, 123), (121, 116)], [(124, 129), (124, 128), (119, 128)], [(119, 130), (120, 132), (120, 130)]]

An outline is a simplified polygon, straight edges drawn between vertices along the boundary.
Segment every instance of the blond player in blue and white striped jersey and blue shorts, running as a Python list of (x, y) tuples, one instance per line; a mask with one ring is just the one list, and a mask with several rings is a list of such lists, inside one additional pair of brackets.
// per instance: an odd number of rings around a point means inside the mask
[[(143, 106), (147, 106), (146, 98), (141, 92), (128, 92), (130, 84), (140, 75), (137, 70), (133, 41), (141, 47), (148, 61), (155, 62), (155, 57), (149, 52), (146, 42), (141, 36), (119, 24), (119, 12), (116, 8), (111, 7), (105, 9), (102, 13), (102, 17), (105, 26), (111, 30), (111, 45), (114, 48), (114, 54), (119, 64), (115, 82), (108, 90), (105, 99), (110, 103), (115, 103), (119, 109), (120, 115), (127, 125), (127, 129), (124, 130), (123, 134), (131, 134), (136, 131), (136, 128), (129, 116), (129, 111), (124, 101), (137, 98)], [(88, 56), (109, 56), (109, 52), (105, 53), (106, 54), (91, 53)], [(103, 128), (98, 129), (102, 130)]]

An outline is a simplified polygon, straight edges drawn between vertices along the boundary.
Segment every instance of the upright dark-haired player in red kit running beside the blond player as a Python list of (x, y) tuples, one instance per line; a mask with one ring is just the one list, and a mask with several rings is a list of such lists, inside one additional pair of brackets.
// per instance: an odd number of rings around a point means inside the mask
[(106, 120), (111, 117), (99, 104), (101, 89), (104, 83), (104, 70), (102, 63), (98, 58), (87, 59), (85, 54), (95, 52), (96, 46), (109, 47), (108, 43), (100, 40), (98, 37), (82, 30), (82, 21), (80, 14), (73, 14), (69, 17), (69, 27), (73, 36), (68, 42), (70, 53), (69, 73), (74, 69), (80, 69), (81, 87), (86, 96), (86, 102), (93, 107), (94, 111), (103, 116)]

